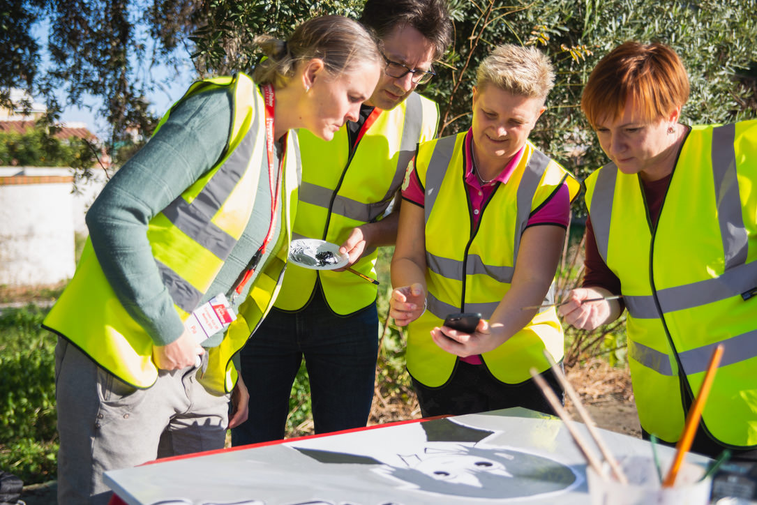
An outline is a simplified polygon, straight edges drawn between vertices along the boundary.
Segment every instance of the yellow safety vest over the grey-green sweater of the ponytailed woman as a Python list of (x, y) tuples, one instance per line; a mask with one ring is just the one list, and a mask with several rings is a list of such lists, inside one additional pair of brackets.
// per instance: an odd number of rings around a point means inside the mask
[[(252, 79), (240, 73), (200, 81), (189, 88), (182, 100), (220, 87), (228, 89), (234, 103), (222, 159), (148, 223), (147, 236), (156, 267), (182, 320), (198, 306), (245, 231), (260, 170), (268, 171), (263, 97)], [(169, 114), (170, 111), (159, 127)], [(296, 133), (289, 132), (278, 217), (282, 223), (279, 249), (272, 251), (261, 267), (223, 342), (208, 350), (207, 371), (201, 382), (218, 394), (234, 387), (237, 371), (231, 358), (276, 297), (288, 254), (290, 214), (297, 203), (298, 157)], [(43, 324), (123, 382), (148, 388), (157, 379), (153, 341), (118, 300), (89, 239), (73, 279)]]

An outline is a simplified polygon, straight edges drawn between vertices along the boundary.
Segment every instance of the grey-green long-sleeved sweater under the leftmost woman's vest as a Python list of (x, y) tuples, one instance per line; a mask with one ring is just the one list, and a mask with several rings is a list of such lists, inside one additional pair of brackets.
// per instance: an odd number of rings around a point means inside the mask
[[(175, 341), (184, 326), (154, 262), (147, 239), (148, 223), (217, 163), (229, 136), (232, 107), (231, 96), (224, 89), (182, 101), (150, 141), (105, 185), (86, 215), (92, 246), (105, 277), (123, 307), (156, 345)], [(265, 149), (264, 143), (259, 142), (258, 148)], [(270, 205), (268, 173), (261, 170), (248, 226), (201, 303), (232, 288), (266, 236)], [(280, 223), (277, 219), (268, 250), (235, 305), (244, 301), (270, 254), (282, 246)], [(213, 335), (203, 346), (216, 346), (222, 338), (222, 333)]]

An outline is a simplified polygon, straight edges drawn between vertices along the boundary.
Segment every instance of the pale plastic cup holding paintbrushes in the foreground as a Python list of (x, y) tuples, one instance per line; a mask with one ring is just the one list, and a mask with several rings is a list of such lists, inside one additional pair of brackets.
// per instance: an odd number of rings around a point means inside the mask
[[(592, 467), (587, 466), (591, 505), (707, 505), (712, 479), (702, 480), (706, 468), (684, 463), (672, 488), (662, 488), (652, 457), (631, 456), (619, 461), (628, 478), (628, 484), (618, 482), (607, 464), (603, 479)], [(661, 460), (663, 477), (670, 467), (670, 460)]]

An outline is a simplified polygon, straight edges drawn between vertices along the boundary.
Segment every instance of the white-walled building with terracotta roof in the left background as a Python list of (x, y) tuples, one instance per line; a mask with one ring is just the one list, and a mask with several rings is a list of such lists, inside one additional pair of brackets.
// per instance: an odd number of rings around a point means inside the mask
[[(24, 92), (11, 90), (11, 100), (14, 110), (0, 108), (0, 133), (29, 132), (45, 114)], [(64, 123), (54, 136), (99, 145), (84, 123)], [(76, 236), (87, 234), (84, 214), (107, 181), (107, 155), (101, 164), (76, 191), (68, 167), (0, 166), (0, 285), (54, 285), (73, 276)]]

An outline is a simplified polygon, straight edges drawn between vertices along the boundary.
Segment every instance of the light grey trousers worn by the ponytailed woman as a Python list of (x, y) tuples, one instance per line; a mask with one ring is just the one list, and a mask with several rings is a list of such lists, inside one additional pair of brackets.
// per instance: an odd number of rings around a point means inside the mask
[(210, 394), (198, 374), (161, 370), (151, 388), (133, 388), (58, 338), (58, 503), (107, 503), (107, 470), (223, 448), (229, 395)]

